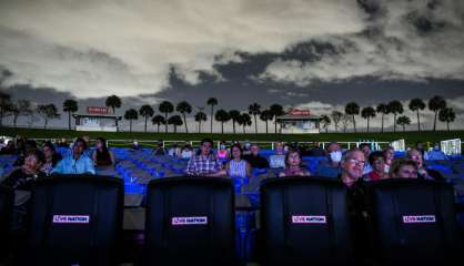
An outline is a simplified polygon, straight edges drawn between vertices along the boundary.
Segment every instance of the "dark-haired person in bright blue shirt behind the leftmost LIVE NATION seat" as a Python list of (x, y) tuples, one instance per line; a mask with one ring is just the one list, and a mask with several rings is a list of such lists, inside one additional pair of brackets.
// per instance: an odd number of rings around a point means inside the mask
[(87, 143), (82, 139), (77, 139), (72, 146), (72, 154), (61, 160), (51, 172), (52, 174), (95, 174), (93, 161), (83, 152)]

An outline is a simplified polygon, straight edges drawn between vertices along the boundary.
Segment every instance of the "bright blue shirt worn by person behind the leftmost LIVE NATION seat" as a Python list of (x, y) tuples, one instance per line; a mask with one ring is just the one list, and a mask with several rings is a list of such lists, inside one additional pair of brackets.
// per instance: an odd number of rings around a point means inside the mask
[(82, 154), (78, 160), (74, 160), (73, 155), (70, 155), (61, 160), (51, 172), (52, 174), (95, 174), (93, 167), (93, 161)]

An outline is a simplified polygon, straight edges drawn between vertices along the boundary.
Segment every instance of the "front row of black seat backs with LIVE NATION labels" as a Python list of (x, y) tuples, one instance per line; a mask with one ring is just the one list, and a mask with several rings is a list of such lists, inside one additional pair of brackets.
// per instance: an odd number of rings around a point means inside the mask
[[(361, 204), (366, 211), (363, 222), (353, 219), (357, 216), (349, 201), (351, 194), (337, 181), (268, 178), (261, 192), (262, 265), (350, 265), (366, 257), (380, 265), (448, 265), (463, 247), (448, 184), (417, 180), (372, 183)], [(1, 195), (0, 225), (4, 229), (12, 200), (8, 200), (8, 190)], [(119, 178), (38, 181), (30, 239), (19, 253), (28, 256), (20, 260), (23, 265), (117, 264), (122, 198)], [(143, 265), (239, 264), (231, 180), (154, 180), (147, 200)], [(359, 231), (362, 223), (365, 235)], [(0, 242), (8, 245), (4, 236)], [(365, 257), (359, 256), (360, 245)]]

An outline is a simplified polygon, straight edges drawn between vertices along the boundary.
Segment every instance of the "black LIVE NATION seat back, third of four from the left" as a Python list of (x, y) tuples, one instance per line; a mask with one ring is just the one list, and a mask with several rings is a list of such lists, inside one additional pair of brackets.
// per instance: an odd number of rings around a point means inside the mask
[(347, 191), (335, 180), (275, 177), (261, 184), (263, 265), (347, 265)]

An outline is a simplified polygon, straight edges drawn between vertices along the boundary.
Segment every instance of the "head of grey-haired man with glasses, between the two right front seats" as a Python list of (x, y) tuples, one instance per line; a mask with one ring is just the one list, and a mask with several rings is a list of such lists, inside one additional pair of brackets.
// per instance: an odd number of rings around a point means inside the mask
[(342, 181), (352, 186), (363, 175), (365, 164), (364, 153), (360, 150), (351, 150), (342, 157)]

